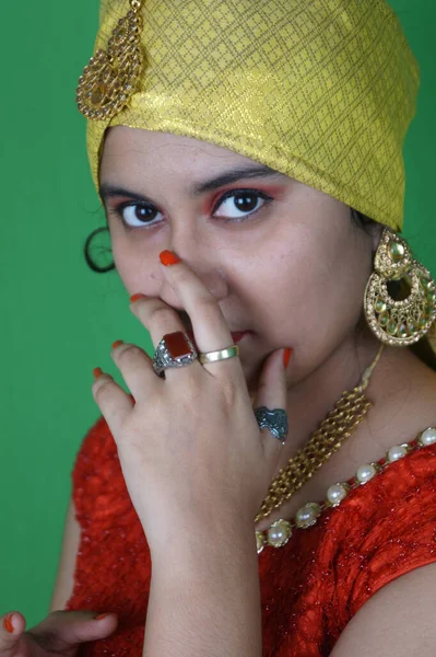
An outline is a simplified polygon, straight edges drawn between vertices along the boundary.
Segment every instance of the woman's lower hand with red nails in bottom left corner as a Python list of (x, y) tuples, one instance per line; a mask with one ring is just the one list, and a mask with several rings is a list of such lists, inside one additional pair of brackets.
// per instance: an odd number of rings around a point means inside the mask
[(101, 620), (96, 616), (93, 611), (52, 611), (25, 632), (23, 614), (8, 613), (0, 616), (0, 657), (74, 657), (81, 644), (106, 638), (116, 630), (114, 613)]

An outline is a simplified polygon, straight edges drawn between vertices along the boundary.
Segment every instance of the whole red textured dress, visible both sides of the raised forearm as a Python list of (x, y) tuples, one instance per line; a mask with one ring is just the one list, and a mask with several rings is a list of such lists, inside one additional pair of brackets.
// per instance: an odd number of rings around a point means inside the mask
[[(72, 482), (81, 543), (64, 609), (119, 616), (114, 635), (84, 644), (79, 655), (141, 657), (150, 552), (104, 418), (83, 440)], [(392, 463), (284, 548), (261, 553), (263, 657), (327, 657), (378, 589), (433, 562), (435, 445)]]

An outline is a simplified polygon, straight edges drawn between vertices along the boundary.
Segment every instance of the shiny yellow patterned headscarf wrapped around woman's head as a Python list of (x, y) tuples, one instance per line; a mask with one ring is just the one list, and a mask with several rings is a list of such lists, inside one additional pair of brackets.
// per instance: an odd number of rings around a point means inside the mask
[[(103, 0), (106, 48), (128, 0)], [(401, 231), (402, 147), (420, 69), (385, 0), (144, 0), (128, 106), (89, 120), (98, 189), (107, 127), (227, 148)]]

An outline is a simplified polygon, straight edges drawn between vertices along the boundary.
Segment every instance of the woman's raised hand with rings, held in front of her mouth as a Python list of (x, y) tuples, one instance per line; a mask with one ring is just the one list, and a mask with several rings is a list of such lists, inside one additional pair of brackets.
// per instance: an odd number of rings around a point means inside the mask
[[(182, 262), (163, 267), (192, 323), (200, 353), (233, 344), (215, 298)], [(186, 331), (177, 312), (156, 298), (131, 304), (154, 346)], [(248, 531), (276, 471), (282, 445), (259, 430), (238, 357), (166, 369), (165, 380), (138, 346), (120, 344), (115, 364), (134, 402), (111, 377), (93, 385), (118, 447), (132, 504), (151, 549), (196, 530)], [(286, 408), (283, 349), (264, 362), (255, 407)], [(181, 532), (181, 533), (180, 533)], [(233, 539), (235, 535), (233, 535)]]

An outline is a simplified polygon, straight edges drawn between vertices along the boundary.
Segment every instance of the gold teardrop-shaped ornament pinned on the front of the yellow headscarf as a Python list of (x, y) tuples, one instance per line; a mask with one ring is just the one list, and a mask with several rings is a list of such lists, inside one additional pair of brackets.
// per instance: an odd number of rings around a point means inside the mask
[(137, 91), (143, 61), (141, 5), (142, 1), (130, 0), (131, 9), (118, 21), (107, 50), (97, 50), (83, 69), (76, 103), (86, 118), (113, 118)]

